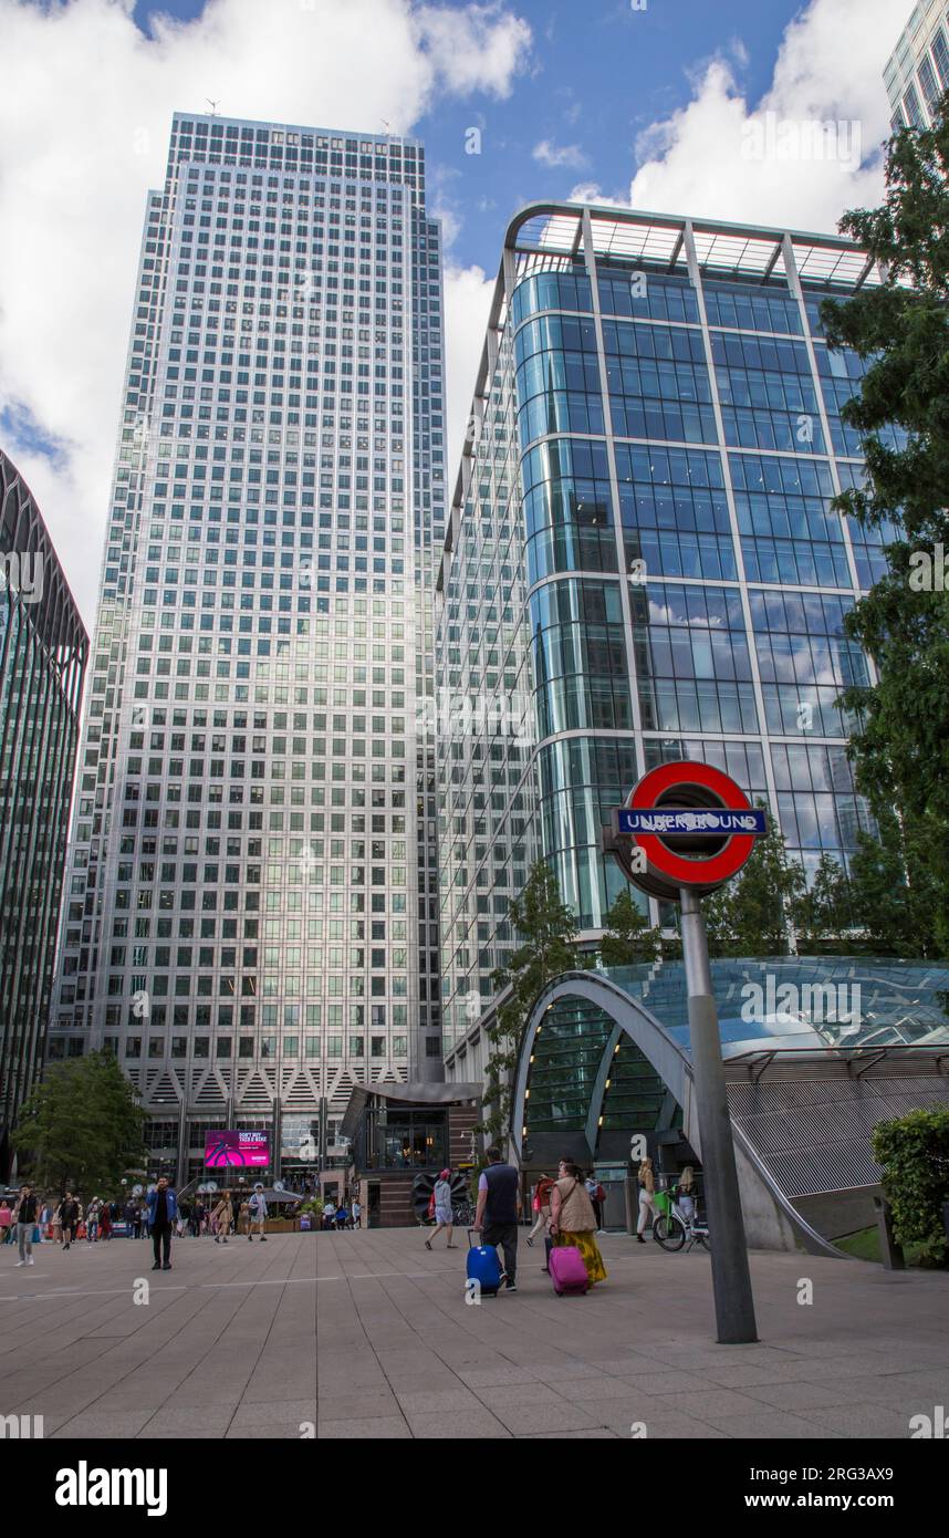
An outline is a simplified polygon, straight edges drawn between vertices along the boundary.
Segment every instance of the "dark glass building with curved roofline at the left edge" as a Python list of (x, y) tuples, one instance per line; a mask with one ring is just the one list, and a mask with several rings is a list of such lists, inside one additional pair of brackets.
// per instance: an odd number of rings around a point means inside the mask
[(88, 646), (40, 509), (0, 451), (0, 1178), (43, 1061)]

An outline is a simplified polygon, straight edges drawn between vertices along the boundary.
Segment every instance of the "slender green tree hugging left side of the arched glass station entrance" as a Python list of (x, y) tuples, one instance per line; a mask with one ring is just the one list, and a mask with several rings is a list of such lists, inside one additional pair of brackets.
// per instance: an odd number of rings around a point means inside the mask
[(537, 997), (560, 972), (588, 966), (577, 950), (574, 915), (561, 901), (557, 877), (538, 860), (531, 866), (520, 897), (508, 907), (518, 946), (506, 966), (492, 974), (495, 992), (511, 989), (488, 1029), (489, 1055), (484, 1070), (484, 1115), (480, 1130), (504, 1137), (511, 1130), (512, 1077), (528, 1017)]

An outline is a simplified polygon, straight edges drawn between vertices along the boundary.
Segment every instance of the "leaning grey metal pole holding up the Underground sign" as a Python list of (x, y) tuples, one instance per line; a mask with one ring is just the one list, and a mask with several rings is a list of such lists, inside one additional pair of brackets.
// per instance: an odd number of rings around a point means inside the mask
[(715, 1323), (721, 1344), (757, 1341), (744, 1220), (735, 1169), (735, 1144), (728, 1109), (718, 1010), (712, 992), (709, 943), (701, 898), (680, 887), (681, 943), (689, 989), (689, 1038), (695, 1074), (695, 1107), (712, 1247)]

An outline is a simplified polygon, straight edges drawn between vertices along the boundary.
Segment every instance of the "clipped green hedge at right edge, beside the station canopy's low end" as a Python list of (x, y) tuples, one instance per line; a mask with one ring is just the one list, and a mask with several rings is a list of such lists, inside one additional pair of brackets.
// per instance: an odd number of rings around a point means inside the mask
[(894, 1209), (894, 1235), (917, 1244), (923, 1266), (946, 1266), (949, 1243), (943, 1204), (949, 1201), (949, 1109), (911, 1110), (880, 1121), (871, 1135)]

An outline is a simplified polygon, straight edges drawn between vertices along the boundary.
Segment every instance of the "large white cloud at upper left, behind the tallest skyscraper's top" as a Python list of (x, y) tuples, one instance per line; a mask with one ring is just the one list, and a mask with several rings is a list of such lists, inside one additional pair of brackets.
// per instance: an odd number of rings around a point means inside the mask
[[(194, 22), (132, 0), (0, 0), (0, 412), (92, 621), (145, 195), (175, 109), (409, 132), (438, 94), (504, 97), (531, 31), (500, 5), (208, 0)], [(469, 285), (463, 281), (465, 292)], [(458, 323), (465, 311), (452, 306)]]

